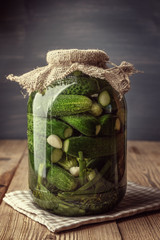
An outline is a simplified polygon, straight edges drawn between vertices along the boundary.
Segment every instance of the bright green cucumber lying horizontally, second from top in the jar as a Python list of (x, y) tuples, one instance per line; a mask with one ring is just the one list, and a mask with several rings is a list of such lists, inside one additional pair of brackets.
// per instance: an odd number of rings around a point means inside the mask
[(66, 116), (89, 111), (92, 101), (86, 96), (59, 95), (52, 103), (48, 114), (50, 116)]

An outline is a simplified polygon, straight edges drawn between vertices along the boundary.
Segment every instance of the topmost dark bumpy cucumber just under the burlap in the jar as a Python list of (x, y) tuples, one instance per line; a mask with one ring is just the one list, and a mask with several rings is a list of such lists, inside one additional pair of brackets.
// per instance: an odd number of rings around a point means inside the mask
[(56, 80), (51, 86), (67, 86), (61, 94), (65, 95), (86, 95), (99, 92), (99, 85), (96, 78), (75, 74), (74, 76), (67, 76), (64, 79)]

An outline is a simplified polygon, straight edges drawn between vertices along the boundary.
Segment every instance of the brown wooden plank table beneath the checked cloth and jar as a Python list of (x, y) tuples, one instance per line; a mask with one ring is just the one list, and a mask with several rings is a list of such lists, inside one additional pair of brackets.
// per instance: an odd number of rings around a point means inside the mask
[[(16, 212), (2, 199), (6, 192), (28, 189), (27, 158), (26, 140), (0, 141), (0, 240), (160, 240), (160, 211), (61, 234)], [(128, 142), (128, 180), (160, 188), (160, 142)]]

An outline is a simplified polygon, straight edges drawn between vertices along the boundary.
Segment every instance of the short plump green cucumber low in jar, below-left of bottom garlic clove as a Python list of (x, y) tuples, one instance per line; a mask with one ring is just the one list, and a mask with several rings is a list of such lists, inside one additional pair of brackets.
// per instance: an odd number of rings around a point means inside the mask
[(62, 191), (73, 191), (78, 184), (69, 172), (55, 164), (48, 171), (47, 181)]

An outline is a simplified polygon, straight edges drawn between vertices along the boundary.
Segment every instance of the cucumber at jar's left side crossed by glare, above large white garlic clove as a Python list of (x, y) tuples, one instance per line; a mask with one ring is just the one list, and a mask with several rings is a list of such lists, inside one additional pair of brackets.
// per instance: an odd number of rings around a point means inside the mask
[(58, 137), (65, 139), (72, 136), (73, 129), (66, 123), (55, 118), (46, 119), (32, 114), (27, 115), (28, 129), (34, 131), (38, 135), (48, 137), (55, 134)]

